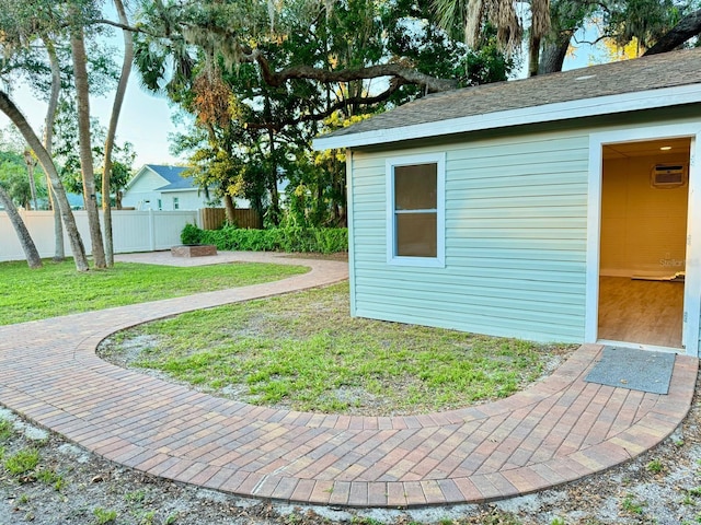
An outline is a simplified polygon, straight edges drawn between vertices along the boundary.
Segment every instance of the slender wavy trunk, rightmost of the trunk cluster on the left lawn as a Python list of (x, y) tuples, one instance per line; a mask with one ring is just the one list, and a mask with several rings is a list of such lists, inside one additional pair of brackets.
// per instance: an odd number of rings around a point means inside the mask
[[(119, 14), (119, 22), (127, 26), (129, 20), (124, 10), (122, 0), (114, 0), (114, 5)], [(105, 160), (102, 174), (102, 211), (105, 221), (105, 261), (108, 268), (114, 266), (114, 245), (112, 242), (112, 203), (110, 202), (110, 179), (112, 177), (112, 150), (114, 148), (114, 137), (117, 132), (117, 122), (119, 121), (119, 113), (124, 103), (124, 94), (127, 91), (127, 82), (131, 72), (131, 62), (134, 61), (134, 38), (131, 32), (122, 31), (124, 37), (124, 57), (122, 60), (122, 74), (117, 84), (117, 92), (114, 95), (114, 104), (112, 105), (112, 116), (110, 117), (110, 128), (105, 140)]]

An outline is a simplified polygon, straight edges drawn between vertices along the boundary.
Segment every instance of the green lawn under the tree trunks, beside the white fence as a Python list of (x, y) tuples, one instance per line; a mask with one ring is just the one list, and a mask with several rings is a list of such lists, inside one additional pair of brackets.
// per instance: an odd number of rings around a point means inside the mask
[(256, 284), (304, 273), (299, 266), (265, 264), (176, 268), (116, 262), (110, 270), (76, 271), (72, 260), (0, 262), (0, 325)]

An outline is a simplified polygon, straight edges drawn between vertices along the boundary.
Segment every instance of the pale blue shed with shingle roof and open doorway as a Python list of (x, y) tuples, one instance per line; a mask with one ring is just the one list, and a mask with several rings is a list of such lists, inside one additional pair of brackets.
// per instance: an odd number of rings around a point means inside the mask
[(698, 355), (700, 139), (701, 48), (435, 94), (318, 138), (348, 149), (353, 315)]

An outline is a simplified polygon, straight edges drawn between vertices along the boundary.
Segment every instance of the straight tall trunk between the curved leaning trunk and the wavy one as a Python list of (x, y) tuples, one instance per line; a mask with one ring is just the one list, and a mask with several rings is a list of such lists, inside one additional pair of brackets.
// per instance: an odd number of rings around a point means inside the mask
[[(80, 171), (83, 177), (83, 201), (88, 212), (88, 225), (92, 242), (92, 259), (95, 268), (106, 268), (105, 250), (102, 244), (100, 213), (95, 189), (95, 172), (92, 163), (92, 141), (90, 137), (90, 101), (88, 88), (88, 57), (83, 40), (82, 26), (71, 28), (70, 48), (73, 57), (73, 77), (76, 82), (76, 102), (78, 106), (78, 149)], [(104, 196), (103, 196), (104, 197)], [(106, 196), (110, 198), (110, 196)]]

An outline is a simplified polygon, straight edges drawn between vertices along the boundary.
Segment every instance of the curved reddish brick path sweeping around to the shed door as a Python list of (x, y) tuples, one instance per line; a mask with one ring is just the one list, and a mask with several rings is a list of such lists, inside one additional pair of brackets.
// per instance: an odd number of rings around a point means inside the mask
[[(168, 254), (139, 257), (172, 262)], [(644, 394), (583, 382), (600, 351), (594, 345), (507, 399), (393, 418), (256, 408), (119, 369), (94, 353), (105, 336), (143, 320), (347, 275), (343, 262), (303, 264), (310, 273), (278, 282), (0, 327), (0, 402), (156, 476), (246, 497), (391, 508), (481, 502), (571, 481), (659, 443), (689, 409), (698, 360), (677, 357), (669, 395)]]

